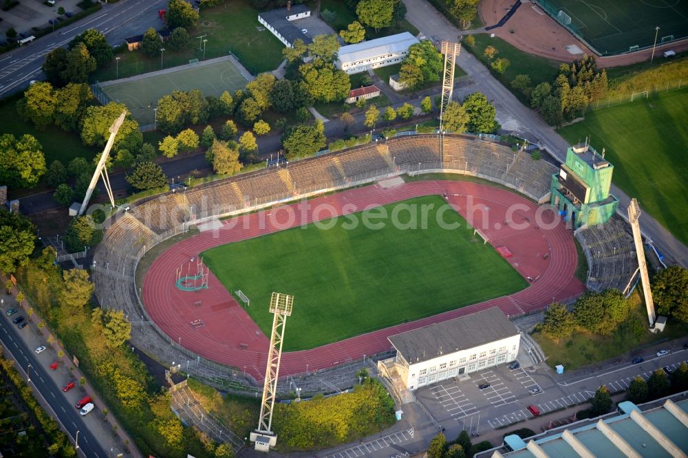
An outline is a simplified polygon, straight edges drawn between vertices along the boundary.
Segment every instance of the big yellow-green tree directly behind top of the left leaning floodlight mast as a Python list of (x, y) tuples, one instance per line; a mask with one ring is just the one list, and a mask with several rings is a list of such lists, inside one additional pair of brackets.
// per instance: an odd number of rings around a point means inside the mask
[(80, 122), (83, 144), (86, 146), (105, 146), (105, 142), (110, 138), (110, 127), (120, 117), (122, 111), (127, 113), (127, 117), (115, 136), (113, 148), (139, 151), (143, 144), (143, 134), (138, 129), (138, 122), (129, 118), (127, 107), (118, 102), (109, 102), (105, 107), (97, 105), (87, 107)]

